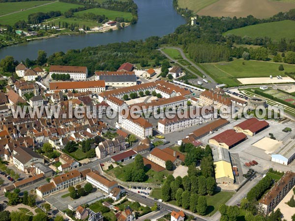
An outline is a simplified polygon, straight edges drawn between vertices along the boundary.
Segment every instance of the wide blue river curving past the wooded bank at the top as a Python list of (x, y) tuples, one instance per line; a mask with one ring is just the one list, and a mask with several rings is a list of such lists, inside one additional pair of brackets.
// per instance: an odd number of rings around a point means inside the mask
[(173, 8), (172, 0), (134, 1), (138, 5), (138, 22), (135, 25), (108, 33), (61, 35), (59, 39), (42, 39), (9, 46), (0, 50), (0, 59), (6, 55), (12, 55), (19, 61), (27, 57), (35, 59), (38, 50), (44, 50), (47, 55), (52, 55), (69, 49), (83, 49), (88, 46), (146, 39), (149, 36), (163, 36), (173, 32), (179, 25), (185, 24), (184, 18)]

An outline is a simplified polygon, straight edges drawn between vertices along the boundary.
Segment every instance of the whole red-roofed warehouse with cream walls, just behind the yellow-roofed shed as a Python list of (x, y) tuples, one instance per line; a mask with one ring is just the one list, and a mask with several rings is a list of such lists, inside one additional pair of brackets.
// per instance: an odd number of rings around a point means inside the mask
[(243, 142), (245, 139), (247, 139), (247, 136), (243, 133), (236, 133), (235, 130), (229, 129), (213, 138), (210, 138), (209, 143), (229, 150), (230, 148)]

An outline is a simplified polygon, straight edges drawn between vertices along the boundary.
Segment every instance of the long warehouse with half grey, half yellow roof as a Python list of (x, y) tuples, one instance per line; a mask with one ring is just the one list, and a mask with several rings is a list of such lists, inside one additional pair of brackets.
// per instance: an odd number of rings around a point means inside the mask
[(233, 184), (235, 181), (229, 151), (222, 147), (212, 148), (216, 183)]

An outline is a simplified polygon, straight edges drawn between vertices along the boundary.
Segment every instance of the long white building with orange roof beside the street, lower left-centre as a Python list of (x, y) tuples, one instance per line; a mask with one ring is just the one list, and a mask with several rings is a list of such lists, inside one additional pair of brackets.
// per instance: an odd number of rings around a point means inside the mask
[(108, 179), (100, 176), (95, 172), (89, 172), (86, 175), (86, 181), (91, 183), (96, 188), (102, 190), (105, 193), (110, 194), (111, 190), (118, 187), (118, 183), (115, 181), (109, 181)]

